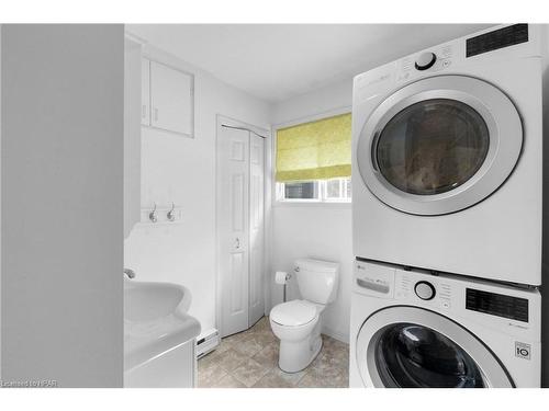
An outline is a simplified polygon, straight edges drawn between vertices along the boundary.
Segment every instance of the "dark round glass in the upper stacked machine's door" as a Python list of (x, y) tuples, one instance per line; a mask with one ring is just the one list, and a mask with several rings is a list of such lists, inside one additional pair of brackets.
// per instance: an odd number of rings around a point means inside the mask
[(396, 189), (434, 195), (456, 189), (481, 168), (490, 146), (482, 116), (456, 100), (425, 100), (391, 118), (373, 146), (383, 178)]

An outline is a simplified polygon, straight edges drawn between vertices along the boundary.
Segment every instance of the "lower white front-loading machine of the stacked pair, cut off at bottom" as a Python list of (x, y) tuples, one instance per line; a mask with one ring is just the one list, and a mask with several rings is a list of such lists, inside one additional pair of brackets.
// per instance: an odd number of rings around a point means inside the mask
[(357, 261), (351, 387), (540, 387), (540, 296)]

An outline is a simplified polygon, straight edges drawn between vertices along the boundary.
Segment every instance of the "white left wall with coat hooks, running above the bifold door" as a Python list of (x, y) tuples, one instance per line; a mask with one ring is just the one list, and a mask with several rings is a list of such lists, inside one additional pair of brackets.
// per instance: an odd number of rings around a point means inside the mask
[(139, 225), (125, 241), (125, 266), (139, 281), (183, 284), (190, 315), (215, 327), (215, 139), (217, 114), (269, 128), (271, 106), (176, 57), (144, 47), (153, 59), (194, 73), (194, 138), (142, 128), (142, 206), (181, 206), (180, 224)]

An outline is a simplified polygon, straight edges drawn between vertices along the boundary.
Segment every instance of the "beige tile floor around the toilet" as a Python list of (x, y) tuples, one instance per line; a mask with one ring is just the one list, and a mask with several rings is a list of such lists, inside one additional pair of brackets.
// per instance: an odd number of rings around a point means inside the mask
[(302, 372), (278, 367), (279, 341), (264, 317), (247, 331), (227, 336), (199, 359), (200, 388), (344, 388), (349, 386), (349, 346), (322, 335), (323, 349)]

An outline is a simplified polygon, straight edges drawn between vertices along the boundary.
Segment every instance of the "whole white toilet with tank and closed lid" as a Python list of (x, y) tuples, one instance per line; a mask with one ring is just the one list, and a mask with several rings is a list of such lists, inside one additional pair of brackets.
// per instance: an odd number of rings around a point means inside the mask
[(303, 299), (274, 306), (269, 317), (280, 339), (279, 367), (287, 373), (305, 368), (322, 349), (321, 316), (336, 298), (339, 264), (303, 259), (294, 272)]

